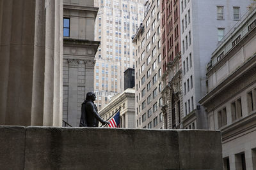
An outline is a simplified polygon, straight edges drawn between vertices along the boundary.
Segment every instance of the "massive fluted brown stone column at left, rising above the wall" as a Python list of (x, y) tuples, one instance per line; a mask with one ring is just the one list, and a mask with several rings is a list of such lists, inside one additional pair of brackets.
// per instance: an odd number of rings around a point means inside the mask
[(0, 0), (0, 124), (62, 122), (62, 0)]

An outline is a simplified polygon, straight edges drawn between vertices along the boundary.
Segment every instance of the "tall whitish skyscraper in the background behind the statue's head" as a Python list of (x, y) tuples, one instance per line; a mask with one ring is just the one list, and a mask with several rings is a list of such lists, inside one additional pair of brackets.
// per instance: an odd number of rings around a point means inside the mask
[(95, 21), (95, 39), (100, 46), (95, 55), (95, 104), (100, 110), (112, 96), (124, 90), (124, 71), (135, 65), (131, 37), (143, 21), (143, 0), (100, 0)]

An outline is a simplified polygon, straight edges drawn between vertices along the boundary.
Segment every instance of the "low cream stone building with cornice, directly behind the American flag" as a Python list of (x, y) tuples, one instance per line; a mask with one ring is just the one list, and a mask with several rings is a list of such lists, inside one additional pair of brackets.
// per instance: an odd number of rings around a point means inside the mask
[[(120, 108), (120, 127), (135, 128), (135, 90), (126, 89), (111, 99), (111, 102), (99, 111), (100, 117), (108, 120)], [(109, 118), (110, 120), (110, 118)]]

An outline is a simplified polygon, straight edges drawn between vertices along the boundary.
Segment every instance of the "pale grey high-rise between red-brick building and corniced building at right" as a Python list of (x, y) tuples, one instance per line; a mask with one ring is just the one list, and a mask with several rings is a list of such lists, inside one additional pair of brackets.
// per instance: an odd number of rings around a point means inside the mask
[(207, 129), (198, 101), (207, 92), (205, 73), (211, 53), (247, 11), (250, 0), (180, 0), (183, 126)]

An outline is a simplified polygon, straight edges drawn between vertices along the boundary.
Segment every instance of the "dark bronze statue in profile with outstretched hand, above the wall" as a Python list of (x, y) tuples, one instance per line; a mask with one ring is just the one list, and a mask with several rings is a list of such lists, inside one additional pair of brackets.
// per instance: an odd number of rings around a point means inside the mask
[(82, 103), (82, 114), (80, 119), (80, 127), (98, 127), (99, 121), (104, 124), (109, 124), (108, 121), (103, 120), (99, 114), (97, 106), (94, 104), (96, 96), (93, 92), (86, 94), (86, 99)]

